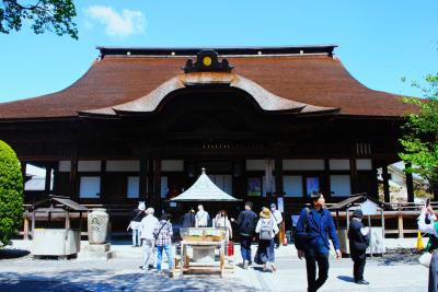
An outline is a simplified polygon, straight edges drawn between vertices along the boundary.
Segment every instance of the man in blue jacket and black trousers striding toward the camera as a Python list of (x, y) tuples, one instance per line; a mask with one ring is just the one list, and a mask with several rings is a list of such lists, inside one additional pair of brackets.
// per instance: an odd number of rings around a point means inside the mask
[[(311, 195), (311, 208), (301, 210), (297, 223), (295, 245), (298, 258), (306, 258), (308, 275), (308, 291), (320, 289), (328, 278), (328, 237), (336, 250), (336, 259), (339, 259), (341, 246), (336, 234), (335, 223), (331, 212), (325, 209), (325, 199), (321, 192)], [(318, 279), (316, 277), (318, 262)]]

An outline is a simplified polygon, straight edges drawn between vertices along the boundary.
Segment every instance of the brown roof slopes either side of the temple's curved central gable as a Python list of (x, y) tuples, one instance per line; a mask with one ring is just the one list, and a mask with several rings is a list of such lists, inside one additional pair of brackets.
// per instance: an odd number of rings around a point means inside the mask
[[(339, 108), (341, 115), (354, 116), (400, 117), (414, 110), (401, 102), (401, 96), (360, 84), (331, 51), (276, 54), (226, 58), (234, 66), (232, 73), (296, 103)], [(60, 92), (1, 103), (0, 119), (77, 117), (79, 112), (126, 104), (181, 74), (186, 59), (171, 55), (105, 55)]]

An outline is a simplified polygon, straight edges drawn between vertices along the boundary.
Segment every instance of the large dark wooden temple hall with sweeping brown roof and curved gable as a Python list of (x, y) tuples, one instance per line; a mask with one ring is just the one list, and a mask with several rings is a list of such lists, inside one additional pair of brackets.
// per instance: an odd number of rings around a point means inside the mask
[(335, 48), (97, 47), (71, 86), (0, 104), (0, 139), (23, 168), (46, 168), (46, 194), (85, 205), (169, 208), (203, 167), (233, 197), (284, 197), (285, 210), (318, 190), (377, 197), (383, 167), (389, 200), (412, 108), (360, 84)]

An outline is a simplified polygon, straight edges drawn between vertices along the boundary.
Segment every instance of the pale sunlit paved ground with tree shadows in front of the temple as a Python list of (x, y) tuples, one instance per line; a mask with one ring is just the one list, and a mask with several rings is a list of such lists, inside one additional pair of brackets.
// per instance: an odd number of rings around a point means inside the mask
[[(0, 252), (0, 291), (306, 291), (306, 265), (292, 246), (276, 252), (278, 270), (264, 272), (258, 266), (243, 270), (239, 266), (224, 278), (217, 275), (191, 275), (169, 279), (143, 272), (141, 249), (113, 246), (119, 258), (107, 261), (32, 259), (25, 248)], [(255, 250), (255, 246), (253, 246)], [(237, 258), (239, 248), (237, 248)], [(124, 255), (128, 255), (128, 257)], [(321, 291), (426, 291), (427, 269), (417, 265), (416, 254), (397, 250), (383, 258), (368, 259), (365, 277), (369, 287), (351, 279), (348, 258), (331, 259), (330, 278)], [(164, 265), (166, 267), (166, 265)]]

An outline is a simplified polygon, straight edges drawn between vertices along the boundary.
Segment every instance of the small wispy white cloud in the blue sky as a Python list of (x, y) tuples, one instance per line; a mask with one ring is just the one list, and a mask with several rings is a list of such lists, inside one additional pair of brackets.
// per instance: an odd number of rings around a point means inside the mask
[(85, 10), (87, 15), (105, 25), (110, 36), (129, 36), (145, 33), (146, 17), (141, 11), (124, 9), (122, 14), (111, 7), (93, 5)]

